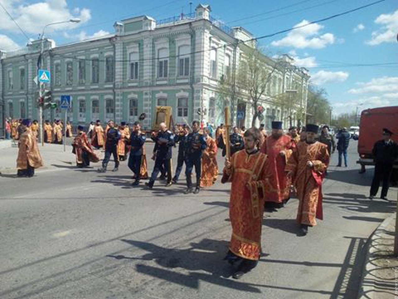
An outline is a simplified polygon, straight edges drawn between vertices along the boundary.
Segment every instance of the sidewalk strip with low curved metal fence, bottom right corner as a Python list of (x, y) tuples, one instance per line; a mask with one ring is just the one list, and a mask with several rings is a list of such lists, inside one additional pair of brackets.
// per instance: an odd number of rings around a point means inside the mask
[[(394, 191), (393, 191), (394, 190)], [(395, 188), (391, 190), (396, 196)], [(367, 246), (363, 268), (360, 299), (398, 298), (398, 258), (394, 256), (394, 234), (396, 213), (386, 218), (375, 230)]]

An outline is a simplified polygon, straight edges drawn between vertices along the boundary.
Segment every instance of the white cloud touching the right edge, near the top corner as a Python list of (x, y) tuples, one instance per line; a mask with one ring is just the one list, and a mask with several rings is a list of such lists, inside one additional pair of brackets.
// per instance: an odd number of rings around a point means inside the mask
[(376, 24), (382, 25), (377, 31), (372, 32), (372, 39), (366, 41), (368, 45), (380, 45), (380, 43), (396, 42), (398, 33), (398, 10), (392, 14), (381, 14), (375, 20)]

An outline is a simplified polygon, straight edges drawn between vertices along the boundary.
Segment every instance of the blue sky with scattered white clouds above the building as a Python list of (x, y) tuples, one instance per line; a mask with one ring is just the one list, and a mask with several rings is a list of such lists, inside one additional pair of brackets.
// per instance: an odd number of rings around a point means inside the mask
[[(227, 26), (242, 26), (254, 36), (281, 30), (370, 4), (377, 0), (209, 0), (211, 16)], [(0, 49), (24, 47), (37, 39), (45, 24), (80, 18), (78, 24), (46, 29), (57, 45), (113, 33), (117, 20), (146, 14), (156, 20), (189, 13), (189, 1), (181, 0), (0, 0), (22, 28), (23, 34), (0, 6)], [(374, 6), (316, 22), (293, 31), (258, 40), (269, 56), (283, 53), (310, 71), (311, 83), (323, 88), (333, 114), (359, 112), (379, 106), (398, 105), (398, 1), (384, 0)]]

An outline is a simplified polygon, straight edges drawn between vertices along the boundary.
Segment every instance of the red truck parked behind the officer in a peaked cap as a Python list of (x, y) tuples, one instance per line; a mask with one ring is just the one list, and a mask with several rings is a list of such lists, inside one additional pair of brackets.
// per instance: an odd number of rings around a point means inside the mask
[[(361, 165), (360, 173), (365, 172), (365, 165), (375, 165), (372, 149), (375, 142), (382, 139), (383, 128), (388, 128), (394, 135), (392, 139), (398, 143), (398, 106), (380, 107), (363, 110), (359, 124), (358, 164)], [(398, 160), (394, 168), (398, 168)]]

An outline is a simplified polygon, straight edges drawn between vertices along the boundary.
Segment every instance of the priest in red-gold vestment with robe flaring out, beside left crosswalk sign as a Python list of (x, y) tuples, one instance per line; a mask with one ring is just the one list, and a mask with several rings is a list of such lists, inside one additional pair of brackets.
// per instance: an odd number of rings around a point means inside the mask
[(94, 153), (91, 144), (88, 142), (86, 133), (84, 133), (84, 127), (77, 127), (77, 135), (73, 140), (72, 153), (76, 155), (77, 167), (84, 168), (90, 166), (90, 162), (98, 162), (100, 159)]

